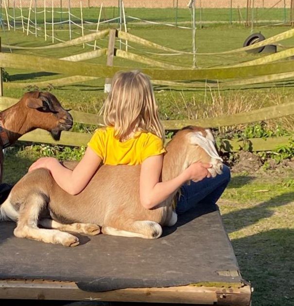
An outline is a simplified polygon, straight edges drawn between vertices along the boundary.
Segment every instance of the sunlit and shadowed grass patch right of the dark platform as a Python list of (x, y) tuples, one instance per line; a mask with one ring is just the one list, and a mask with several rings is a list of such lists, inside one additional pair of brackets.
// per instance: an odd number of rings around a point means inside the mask
[(294, 305), (293, 177), (293, 169), (234, 175), (219, 202), (254, 306)]

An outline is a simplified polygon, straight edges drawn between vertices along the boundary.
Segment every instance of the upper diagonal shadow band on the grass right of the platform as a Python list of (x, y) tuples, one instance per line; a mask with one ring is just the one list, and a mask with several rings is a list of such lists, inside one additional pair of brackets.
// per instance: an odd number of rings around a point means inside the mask
[(222, 215), (228, 233), (238, 231), (246, 226), (253, 225), (263, 218), (274, 214), (270, 208), (286, 205), (294, 201), (294, 192), (283, 193), (257, 206), (232, 211)]

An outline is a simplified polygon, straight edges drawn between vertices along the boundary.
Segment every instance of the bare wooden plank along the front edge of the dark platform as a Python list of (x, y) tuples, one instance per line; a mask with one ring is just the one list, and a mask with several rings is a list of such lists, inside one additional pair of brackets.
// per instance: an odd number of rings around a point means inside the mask
[(240, 288), (179, 286), (87, 292), (73, 282), (0, 280), (0, 298), (249, 306), (251, 288), (244, 284)]

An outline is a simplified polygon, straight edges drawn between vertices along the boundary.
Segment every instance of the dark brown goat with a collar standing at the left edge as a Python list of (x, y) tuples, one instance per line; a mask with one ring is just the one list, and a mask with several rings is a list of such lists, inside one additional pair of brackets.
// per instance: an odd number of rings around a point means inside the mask
[(3, 148), (37, 128), (48, 130), (55, 140), (59, 140), (61, 131), (71, 127), (70, 113), (48, 92), (28, 92), (15, 105), (0, 112), (0, 182), (3, 174)]

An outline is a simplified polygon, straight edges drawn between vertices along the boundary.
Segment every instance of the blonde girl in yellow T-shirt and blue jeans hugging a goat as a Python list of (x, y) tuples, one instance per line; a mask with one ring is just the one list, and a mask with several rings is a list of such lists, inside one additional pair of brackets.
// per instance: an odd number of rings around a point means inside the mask
[[(105, 128), (97, 129), (86, 153), (74, 170), (55, 158), (41, 158), (30, 167), (50, 170), (56, 183), (70, 194), (80, 193), (101, 163), (141, 164), (140, 202), (146, 209), (156, 207), (184, 185), (176, 211), (182, 213), (197, 201), (214, 204), (229, 182), (229, 170), (210, 178), (210, 164), (191, 164), (178, 177), (161, 182), (165, 149), (164, 129), (159, 121), (156, 100), (149, 78), (139, 71), (119, 72), (112, 79), (111, 92), (104, 103)], [(98, 170), (99, 171), (99, 170)]]

